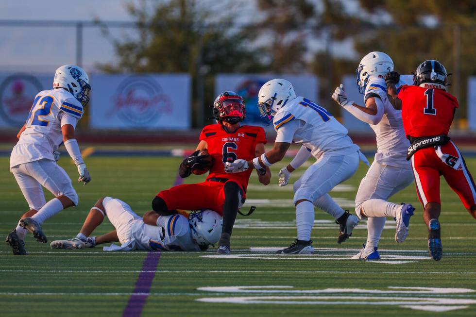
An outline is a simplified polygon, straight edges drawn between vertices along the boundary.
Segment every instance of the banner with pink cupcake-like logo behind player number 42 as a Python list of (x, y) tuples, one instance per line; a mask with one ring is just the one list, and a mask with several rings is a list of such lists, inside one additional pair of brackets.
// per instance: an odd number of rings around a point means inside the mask
[(52, 89), (53, 75), (0, 74), (0, 128), (19, 130), (32, 108), (34, 96)]

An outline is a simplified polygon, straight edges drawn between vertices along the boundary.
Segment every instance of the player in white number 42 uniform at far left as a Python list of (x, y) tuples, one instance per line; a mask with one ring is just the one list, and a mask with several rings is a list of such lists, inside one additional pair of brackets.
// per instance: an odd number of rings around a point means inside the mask
[[(78, 167), (78, 181), (87, 184), (91, 180), (74, 138), (74, 129), (83, 116), (90, 89), (88, 76), (81, 67), (59, 67), (54, 74), (53, 89), (36, 95), (28, 119), (17, 134), (18, 143), (10, 156), (10, 171), (30, 210), (7, 236), (6, 242), (14, 254), (26, 254), (23, 239), (28, 231), (37, 241), (46, 243), (41, 224), (61, 210), (78, 204), (78, 195), (68, 174), (56, 164), (57, 150), (62, 142)], [(42, 186), (55, 198), (46, 202)]]

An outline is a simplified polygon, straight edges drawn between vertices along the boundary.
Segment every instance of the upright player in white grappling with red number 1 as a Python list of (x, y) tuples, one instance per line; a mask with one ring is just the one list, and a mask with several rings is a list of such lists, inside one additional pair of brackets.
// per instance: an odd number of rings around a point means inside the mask
[[(413, 182), (411, 166), (407, 161), (409, 142), (405, 136), (402, 111), (395, 110), (387, 96), (384, 76), (393, 70), (393, 61), (383, 52), (370, 52), (357, 68), (357, 87), (364, 95), (365, 106), (347, 99), (340, 84), (332, 98), (354, 117), (367, 122), (376, 134), (377, 153), (374, 162), (358, 187), (356, 214), (367, 220), (367, 242), (353, 259), (379, 259), (377, 245), (387, 217), (395, 218), (395, 241), (402, 243), (408, 236), (410, 217), (415, 208), (411, 204), (387, 201), (392, 195)], [(413, 77), (400, 77), (398, 88), (412, 84)]]

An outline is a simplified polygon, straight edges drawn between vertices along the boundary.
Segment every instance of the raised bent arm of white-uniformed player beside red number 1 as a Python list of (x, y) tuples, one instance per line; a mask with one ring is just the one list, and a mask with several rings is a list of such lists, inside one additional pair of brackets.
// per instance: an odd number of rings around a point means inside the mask
[(363, 107), (355, 101), (349, 101), (344, 85), (340, 84), (332, 94), (332, 99), (357, 119), (369, 124), (377, 124), (383, 117), (384, 104), (378, 95), (375, 94), (375, 96), (367, 98), (365, 100), (365, 107)]

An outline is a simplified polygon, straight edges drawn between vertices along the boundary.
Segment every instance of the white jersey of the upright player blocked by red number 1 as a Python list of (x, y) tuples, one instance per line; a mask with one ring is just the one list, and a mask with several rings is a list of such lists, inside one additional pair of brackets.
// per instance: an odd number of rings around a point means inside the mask
[[(413, 84), (413, 76), (402, 75), (396, 88), (407, 84)], [(387, 96), (387, 85), (383, 78), (371, 78), (365, 89), (364, 100), (376, 94), (384, 104), (384, 115), (379, 123), (370, 127), (374, 130), (377, 141), (377, 153), (375, 161), (394, 167), (407, 167), (410, 165), (407, 161), (407, 150), (410, 143), (403, 130), (402, 111), (395, 110)]]

